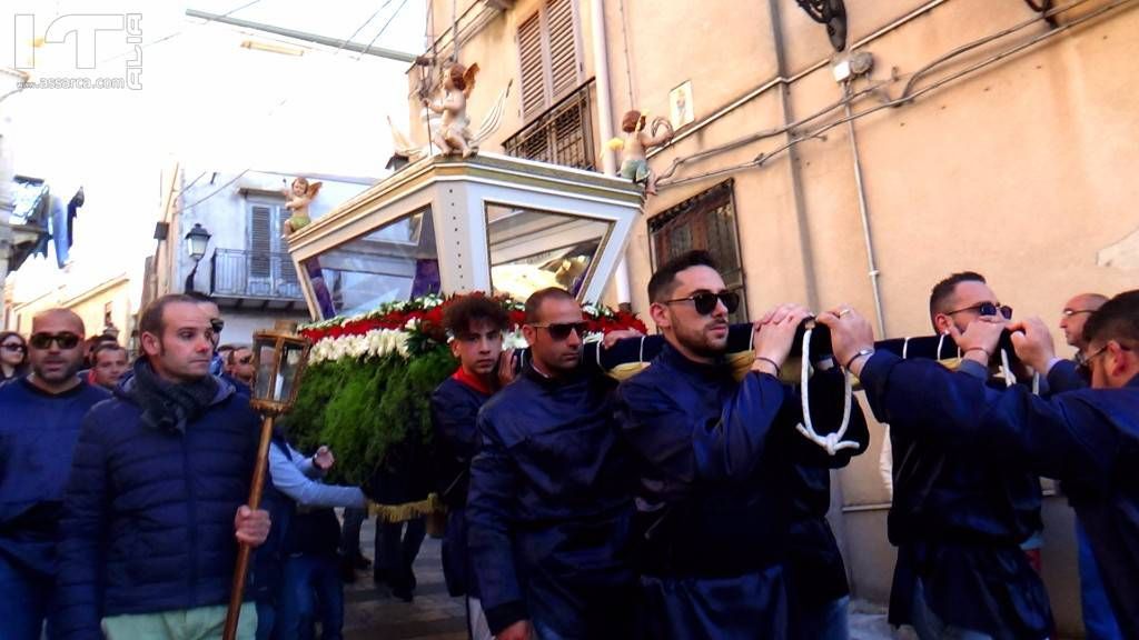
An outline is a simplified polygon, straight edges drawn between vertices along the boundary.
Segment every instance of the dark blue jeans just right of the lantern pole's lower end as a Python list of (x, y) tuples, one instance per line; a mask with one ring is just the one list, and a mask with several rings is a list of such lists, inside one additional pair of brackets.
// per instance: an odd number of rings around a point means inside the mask
[(320, 612), (322, 640), (341, 640), (344, 630), (344, 585), (336, 556), (296, 556), (285, 560), (276, 635), (311, 640)]

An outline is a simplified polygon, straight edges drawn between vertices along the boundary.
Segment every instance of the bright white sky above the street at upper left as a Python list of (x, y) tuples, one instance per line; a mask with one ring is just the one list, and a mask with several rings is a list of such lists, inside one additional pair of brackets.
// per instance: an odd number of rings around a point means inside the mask
[[(5, 6), (0, 66), (23, 67), (41, 83), (130, 79), (138, 85), (25, 89), (0, 102), (16, 173), (46, 179), (57, 194), (83, 187), (87, 204), (73, 249), (83, 268), (74, 271), (92, 284), (124, 271), (141, 274), (144, 257), (154, 251), (162, 170), (174, 161), (219, 172), (379, 178), (391, 151), (385, 117), (405, 126), (407, 63), (205, 23), (186, 9), (232, 11), (235, 18), (352, 36), (361, 44), (375, 39), (376, 47), (412, 55), (425, 48), (421, 0)], [(141, 50), (134, 49), (138, 39)], [(303, 55), (243, 48), (245, 42)], [(79, 68), (84, 60), (93, 68)], [(51, 270), (46, 262), (30, 263), (17, 276), (18, 289), (48, 286)]]

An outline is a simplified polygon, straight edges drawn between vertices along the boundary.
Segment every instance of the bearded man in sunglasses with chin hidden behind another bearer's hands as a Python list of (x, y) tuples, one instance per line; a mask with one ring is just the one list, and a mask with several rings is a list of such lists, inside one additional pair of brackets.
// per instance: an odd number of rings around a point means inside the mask
[[(959, 371), (981, 383), (990, 378), (995, 347), (975, 344), (972, 331), (1003, 327), (1011, 317), (973, 271), (951, 274), (929, 294), (934, 330), (966, 356)], [(1052, 626), (1048, 594), (1021, 547), (1043, 527), (1040, 478), (919, 427), (945, 411), (929, 403), (920, 413), (883, 420), (891, 427), (894, 477), (887, 531), (898, 547), (890, 622), (913, 626), (923, 640), (944, 633), (1044, 638)]]

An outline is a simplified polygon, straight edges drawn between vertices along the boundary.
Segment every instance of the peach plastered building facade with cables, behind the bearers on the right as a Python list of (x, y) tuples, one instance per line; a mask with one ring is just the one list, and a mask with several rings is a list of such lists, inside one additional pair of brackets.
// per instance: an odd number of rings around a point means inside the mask
[[(886, 337), (928, 335), (929, 289), (966, 269), (1017, 317), (1054, 326), (1073, 294), (1139, 281), (1137, 1), (1042, 15), (1022, 0), (846, 0), (842, 52), (789, 0), (428, 6), (427, 54), (448, 59), (457, 31), (458, 58), (482, 69), (474, 122), (511, 85), (484, 149), (612, 171), (622, 114), (673, 122), (611, 304), (644, 313), (654, 268), (689, 248), (712, 251), (740, 287), (740, 320), (784, 301), (850, 303)], [(408, 72), (413, 113), (428, 77)], [(885, 601), (893, 550), (872, 434), (837, 474), (834, 524), (855, 596)], [(1062, 498), (1046, 520), (1059, 631), (1077, 634)]]

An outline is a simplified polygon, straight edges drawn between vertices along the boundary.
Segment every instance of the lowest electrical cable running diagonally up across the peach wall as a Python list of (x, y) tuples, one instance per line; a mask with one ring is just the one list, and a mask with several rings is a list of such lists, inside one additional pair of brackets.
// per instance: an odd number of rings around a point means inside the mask
[[(1066, 11), (1068, 9), (1072, 9), (1074, 7), (1083, 5), (1084, 2), (1088, 2), (1088, 1), (1090, 1), (1090, 0), (1077, 0), (1075, 2), (1071, 2), (1071, 3), (1065, 5), (1063, 7), (1057, 7), (1056, 9), (1052, 9), (1051, 11), (1049, 11), (1049, 14), (1051, 16), (1054, 16), (1054, 15), (1056, 15), (1058, 13)], [(1083, 24), (1083, 23), (1085, 23), (1088, 20), (1095, 19), (1095, 18), (1099, 17), (1100, 15), (1103, 15), (1103, 14), (1105, 14), (1107, 11), (1111, 11), (1111, 10), (1117, 8), (1117, 7), (1122, 7), (1124, 5), (1130, 5), (1133, 1), (1134, 0), (1115, 0), (1115, 1), (1111, 2), (1111, 3), (1108, 3), (1108, 5), (1104, 5), (1103, 7), (1099, 7), (1098, 9), (1092, 10), (1091, 13), (1088, 13), (1088, 14), (1085, 14), (1085, 15), (1083, 15), (1083, 16), (1081, 16), (1081, 17), (1079, 17), (1079, 18), (1076, 18), (1076, 19), (1074, 19), (1074, 20), (1072, 20), (1072, 22), (1070, 22), (1067, 24), (1057, 26), (1056, 28), (1049, 30), (1049, 31), (1047, 31), (1047, 32), (1044, 32), (1044, 33), (1042, 33), (1040, 35), (1031, 38), (1031, 39), (1022, 42), (1021, 44), (1017, 44), (1015, 47), (1010, 47), (1008, 49), (1005, 49), (1003, 51), (1000, 51), (999, 54), (990, 56), (990, 57), (988, 57), (988, 58), (985, 58), (985, 59), (983, 59), (983, 60), (981, 60), (981, 61), (978, 61), (978, 63), (976, 63), (974, 65), (970, 65), (970, 66), (968, 66), (968, 67), (966, 67), (966, 68), (957, 72), (957, 73), (950, 74), (950, 75), (948, 75), (948, 76), (945, 76), (945, 77), (943, 77), (943, 79), (941, 79), (941, 80), (939, 80), (939, 81), (936, 81), (936, 82), (934, 82), (934, 83), (932, 83), (932, 84), (929, 84), (927, 87), (924, 87), (924, 88), (919, 89), (916, 92), (907, 95), (903, 91), (903, 93), (900, 97), (898, 97), (898, 98), (885, 100), (885, 101), (883, 101), (879, 105), (876, 105), (876, 106), (870, 107), (868, 109), (865, 109), (865, 110), (851, 114), (850, 116), (841, 117), (841, 118), (838, 118), (836, 121), (833, 121), (833, 122), (829, 122), (829, 123), (827, 123), (827, 124), (825, 124), (822, 126), (819, 126), (818, 129), (814, 129), (814, 130), (812, 130), (810, 132), (806, 132), (806, 133), (803, 133), (803, 134), (797, 136), (795, 138), (792, 138), (786, 143), (780, 145), (779, 147), (775, 148), (771, 151), (764, 151), (764, 153), (760, 154), (759, 156), (756, 156), (755, 158), (753, 158), (749, 162), (740, 163), (740, 164), (736, 164), (736, 165), (731, 165), (731, 166), (726, 166), (726, 167), (721, 167), (721, 169), (718, 169), (718, 170), (714, 170), (714, 171), (710, 171), (710, 172), (706, 172), (706, 173), (690, 175), (690, 177), (680, 178), (680, 179), (675, 179), (675, 180), (664, 180), (664, 181), (658, 180), (657, 181), (657, 188), (658, 189), (663, 189), (663, 188), (667, 188), (667, 187), (678, 187), (680, 184), (686, 184), (686, 183), (695, 182), (695, 181), (698, 181), (698, 180), (706, 180), (708, 178), (716, 178), (716, 177), (720, 177), (720, 175), (727, 175), (727, 174), (735, 173), (735, 172), (738, 172), (738, 171), (743, 171), (743, 170), (746, 170), (746, 169), (752, 169), (752, 167), (761, 166), (767, 161), (769, 161), (772, 157), (778, 156), (779, 154), (781, 154), (781, 153), (784, 153), (784, 151), (786, 151), (786, 150), (795, 147), (796, 145), (800, 145), (802, 142), (805, 142), (806, 140), (811, 140), (811, 139), (814, 139), (814, 138), (821, 138), (823, 133), (826, 133), (827, 131), (830, 131), (831, 129), (834, 129), (836, 126), (843, 125), (843, 124), (845, 124), (847, 122), (852, 122), (852, 121), (855, 121), (855, 120), (859, 120), (859, 118), (862, 118), (862, 117), (866, 117), (868, 115), (871, 115), (874, 113), (880, 112), (883, 109), (888, 109), (888, 108), (893, 108), (893, 107), (900, 107), (900, 106), (907, 105), (909, 102), (912, 102), (916, 99), (920, 98), (921, 96), (925, 96), (926, 93), (929, 93), (929, 92), (932, 92), (932, 91), (934, 91), (936, 89), (940, 89), (941, 87), (944, 87), (945, 84), (954, 82), (954, 81), (957, 81), (957, 80), (959, 80), (961, 77), (965, 77), (967, 75), (972, 75), (973, 73), (975, 73), (975, 72), (977, 72), (977, 71), (980, 71), (980, 69), (982, 69), (984, 67), (988, 67), (989, 65), (998, 63), (998, 61), (1000, 61), (1000, 60), (1002, 60), (1002, 59), (1005, 59), (1005, 58), (1007, 58), (1007, 57), (1009, 57), (1011, 55), (1015, 55), (1015, 54), (1017, 54), (1019, 51), (1023, 51), (1024, 49), (1027, 49), (1029, 47), (1038, 44), (1038, 43), (1040, 43), (1040, 42), (1042, 42), (1044, 40), (1054, 38), (1054, 36), (1056, 36), (1059, 33), (1064, 33), (1064, 32), (1066, 32), (1066, 31), (1068, 31), (1068, 30), (1071, 30), (1071, 28), (1073, 28), (1075, 26), (1079, 26), (1079, 25), (1081, 25), (1081, 24)], [(1026, 23), (1022, 23), (1022, 25), (1018, 28), (1024, 28), (1025, 26), (1035, 23), (1038, 19), (1040, 19), (1040, 17), (1041, 16), (1038, 16), (1033, 20), (1030, 20), (1030, 22), (1026, 22)], [(1047, 17), (1050, 17), (1050, 16), (1047, 16)], [(1005, 34), (1005, 35), (1008, 35), (1008, 34)], [(990, 36), (983, 38), (981, 40), (992, 41), (993, 39), (994, 38), (992, 35), (990, 35)], [(975, 46), (970, 47), (970, 44), (974, 44), (974, 43), (966, 44), (964, 48), (959, 48), (959, 49), (968, 50), (968, 49), (975, 48)], [(977, 46), (980, 46), (980, 44), (977, 44)], [(960, 51), (958, 51), (958, 52), (960, 52)], [(929, 65), (927, 65), (927, 66), (929, 66)], [(927, 71), (927, 69), (925, 69), (925, 67), (923, 67), (921, 71)], [(866, 93), (866, 90), (860, 91), (859, 93), (854, 93), (853, 96), (859, 96), (859, 95), (865, 95), (865, 93)], [(842, 101), (839, 101), (837, 106), (842, 106)], [(829, 112), (830, 109), (826, 109), (826, 110)]]

